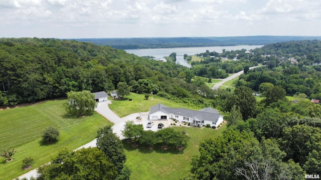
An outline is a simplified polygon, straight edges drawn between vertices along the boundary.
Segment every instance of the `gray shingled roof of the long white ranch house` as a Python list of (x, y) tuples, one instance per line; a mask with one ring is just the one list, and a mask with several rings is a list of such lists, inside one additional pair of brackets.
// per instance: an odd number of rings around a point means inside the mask
[(190, 110), (184, 108), (171, 108), (159, 103), (150, 107), (149, 113), (151, 114), (157, 111), (173, 113), (175, 115), (183, 115), (192, 118), (197, 117), (200, 120), (209, 120), (213, 122), (216, 122), (220, 117), (219, 111), (215, 110), (212, 107), (203, 108), (201, 110)]

